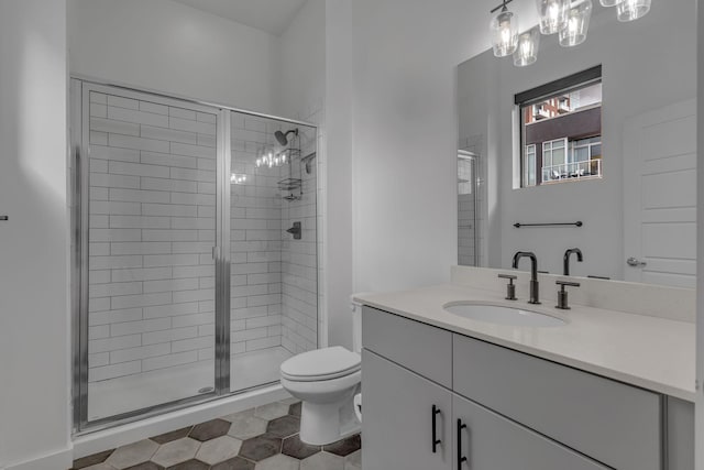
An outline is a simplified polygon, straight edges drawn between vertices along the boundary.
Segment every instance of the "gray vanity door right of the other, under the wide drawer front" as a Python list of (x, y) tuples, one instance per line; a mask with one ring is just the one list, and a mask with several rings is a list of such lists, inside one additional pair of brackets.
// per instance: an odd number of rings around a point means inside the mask
[(457, 470), (608, 469), (458, 395), (452, 397), (452, 409)]

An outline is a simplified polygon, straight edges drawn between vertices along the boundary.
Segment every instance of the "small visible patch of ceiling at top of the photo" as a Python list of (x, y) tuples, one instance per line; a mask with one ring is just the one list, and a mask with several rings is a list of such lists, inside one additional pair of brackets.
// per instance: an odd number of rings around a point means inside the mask
[(306, 0), (174, 0), (279, 36)]

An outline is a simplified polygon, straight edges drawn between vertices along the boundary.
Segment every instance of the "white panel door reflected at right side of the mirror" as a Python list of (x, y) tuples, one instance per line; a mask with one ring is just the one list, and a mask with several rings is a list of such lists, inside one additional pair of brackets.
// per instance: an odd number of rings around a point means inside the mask
[(626, 122), (624, 223), (626, 281), (695, 286), (695, 100)]

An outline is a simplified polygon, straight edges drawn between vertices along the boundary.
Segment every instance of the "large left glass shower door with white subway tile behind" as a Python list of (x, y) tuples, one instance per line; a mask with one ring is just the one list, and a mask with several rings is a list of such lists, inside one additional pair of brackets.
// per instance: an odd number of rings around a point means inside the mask
[(80, 96), (80, 406), (94, 423), (215, 393), (221, 114), (101, 85)]

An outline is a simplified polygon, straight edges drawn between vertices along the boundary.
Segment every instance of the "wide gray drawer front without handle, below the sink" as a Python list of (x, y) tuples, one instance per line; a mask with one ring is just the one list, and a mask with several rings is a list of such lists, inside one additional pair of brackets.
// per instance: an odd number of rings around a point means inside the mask
[(454, 391), (619, 470), (661, 468), (661, 397), (461, 335)]

